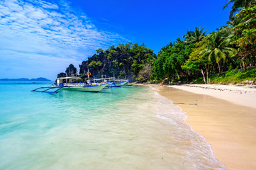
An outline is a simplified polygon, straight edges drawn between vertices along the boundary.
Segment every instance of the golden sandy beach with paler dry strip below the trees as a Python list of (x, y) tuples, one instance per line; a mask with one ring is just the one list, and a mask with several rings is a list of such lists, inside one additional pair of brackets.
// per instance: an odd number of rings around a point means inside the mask
[[(256, 89), (246, 86), (155, 86), (179, 104), (187, 123), (211, 144), (228, 169), (256, 169)], [(193, 93), (191, 93), (191, 92)]]

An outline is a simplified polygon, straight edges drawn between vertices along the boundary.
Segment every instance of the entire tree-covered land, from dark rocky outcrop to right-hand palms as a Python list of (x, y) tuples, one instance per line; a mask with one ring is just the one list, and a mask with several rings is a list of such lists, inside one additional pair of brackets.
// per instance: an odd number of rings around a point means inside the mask
[(187, 30), (157, 55), (138, 43), (98, 49), (79, 65), (79, 74), (89, 69), (94, 77), (106, 75), (140, 82), (255, 84), (256, 0), (228, 0), (223, 8), (230, 4), (230, 21), (213, 33), (207, 35), (201, 27)]

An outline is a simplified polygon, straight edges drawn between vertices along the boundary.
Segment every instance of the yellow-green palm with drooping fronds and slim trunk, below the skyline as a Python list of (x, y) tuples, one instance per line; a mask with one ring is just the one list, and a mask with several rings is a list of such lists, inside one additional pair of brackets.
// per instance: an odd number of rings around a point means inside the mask
[(212, 33), (207, 37), (208, 45), (206, 49), (200, 52), (201, 57), (208, 57), (208, 60), (215, 60), (218, 64), (218, 71), (221, 74), (221, 61), (226, 62), (228, 57), (234, 57), (237, 50), (231, 47), (227, 47), (227, 42), (230, 40), (230, 35), (218, 31)]

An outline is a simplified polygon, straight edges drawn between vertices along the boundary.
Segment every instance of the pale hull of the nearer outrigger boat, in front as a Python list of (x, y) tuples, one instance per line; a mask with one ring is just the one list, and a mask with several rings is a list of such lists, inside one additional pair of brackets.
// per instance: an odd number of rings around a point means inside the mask
[(66, 91), (84, 91), (84, 92), (99, 92), (109, 84), (101, 84), (98, 86), (64, 86), (61, 90)]

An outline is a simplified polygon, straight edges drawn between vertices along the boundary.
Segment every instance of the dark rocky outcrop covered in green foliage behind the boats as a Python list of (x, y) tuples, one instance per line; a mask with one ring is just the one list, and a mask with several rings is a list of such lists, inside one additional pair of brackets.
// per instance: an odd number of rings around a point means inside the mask
[[(145, 47), (144, 44), (120, 44), (117, 47), (113, 45), (107, 50), (99, 48), (97, 54), (89, 58), (88, 62), (83, 62), (80, 66), (80, 73), (86, 73), (89, 67), (91, 74), (99, 77), (101, 74), (120, 77), (129, 77), (134, 79), (145, 65), (152, 65), (155, 62), (156, 55), (153, 50)], [(151, 76), (151, 75), (150, 75)]]

